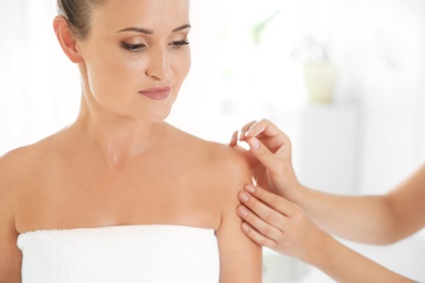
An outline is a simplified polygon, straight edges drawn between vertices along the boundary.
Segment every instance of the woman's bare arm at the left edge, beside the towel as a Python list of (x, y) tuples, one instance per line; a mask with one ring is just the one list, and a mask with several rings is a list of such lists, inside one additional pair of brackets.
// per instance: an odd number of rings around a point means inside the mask
[(14, 198), (5, 158), (0, 159), (0, 282), (21, 282), (22, 254), (16, 246), (17, 232), (13, 216)]

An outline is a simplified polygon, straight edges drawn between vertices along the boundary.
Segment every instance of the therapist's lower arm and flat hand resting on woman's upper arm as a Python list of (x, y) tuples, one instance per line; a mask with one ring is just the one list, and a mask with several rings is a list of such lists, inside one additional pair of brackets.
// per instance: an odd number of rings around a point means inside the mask
[(284, 198), (258, 186), (246, 186), (239, 196), (243, 229), (259, 245), (315, 266), (337, 282), (413, 282), (342, 245)]

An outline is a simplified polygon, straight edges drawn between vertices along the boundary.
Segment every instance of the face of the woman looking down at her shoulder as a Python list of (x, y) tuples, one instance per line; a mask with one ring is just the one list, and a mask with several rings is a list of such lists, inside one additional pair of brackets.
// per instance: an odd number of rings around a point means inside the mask
[(191, 65), (189, 0), (109, 0), (78, 42), (88, 96), (125, 118), (167, 118)]

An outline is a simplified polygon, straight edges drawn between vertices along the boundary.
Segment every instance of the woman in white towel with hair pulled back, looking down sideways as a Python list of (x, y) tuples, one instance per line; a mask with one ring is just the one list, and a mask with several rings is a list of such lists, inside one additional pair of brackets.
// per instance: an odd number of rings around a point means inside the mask
[(245, 160), (163, 122), (190, 69), (189, 0), (58, 3), (81, 111), (0, 160), (0, 282), (259, 282), (234, 213)]

